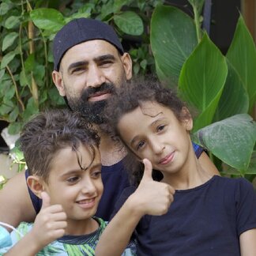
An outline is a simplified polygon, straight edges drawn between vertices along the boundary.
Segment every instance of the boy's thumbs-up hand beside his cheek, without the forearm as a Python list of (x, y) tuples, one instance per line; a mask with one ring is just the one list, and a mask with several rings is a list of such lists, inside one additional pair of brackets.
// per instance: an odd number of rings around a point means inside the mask
[(40, 250), (65, 234), (66, 213), (62, 205), (51, 205), (47, 192), (41, 194), (43, 204), (32, 228), (33, 242)]

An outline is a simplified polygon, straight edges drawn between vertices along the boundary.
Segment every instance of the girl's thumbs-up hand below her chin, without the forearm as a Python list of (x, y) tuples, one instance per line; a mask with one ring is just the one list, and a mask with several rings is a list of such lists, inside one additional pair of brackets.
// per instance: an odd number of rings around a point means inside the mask
[(175, 190), (167, 183), (156, 182), (152, 179), (152, 164), (144, 159), (144, 175), (137, 190), (130, 196), (130, 202), (141, 215), (163, 215), (173, 201)]

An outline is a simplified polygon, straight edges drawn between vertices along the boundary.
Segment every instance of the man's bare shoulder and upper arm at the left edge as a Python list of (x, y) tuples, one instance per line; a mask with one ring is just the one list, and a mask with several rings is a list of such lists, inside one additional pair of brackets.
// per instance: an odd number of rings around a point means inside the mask
[(6, 224), (17, 227), (22, 221), (32, 222), (36, 218), (24, 171), (14, 175), (0, 190), (0, 202), (0, 221)]

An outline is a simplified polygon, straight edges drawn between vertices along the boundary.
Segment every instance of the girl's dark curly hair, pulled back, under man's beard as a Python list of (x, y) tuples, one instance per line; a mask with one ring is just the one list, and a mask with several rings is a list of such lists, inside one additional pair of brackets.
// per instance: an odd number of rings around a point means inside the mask
[[(183, 119), (181, 113), (183, 107), (186, 107), (186, 105), (182, 100), (179, 100), (174, 90), (164, 87), (155, 77), (137, 77), (133, 81), (123, 84), (116, 90), (115, 96), (112, 96), (111, 100), (108, 100), (107, 107), (104, 111), (104, 119), (107, 120), (104, 130), (115, 139), (122, 141), (122, 137), (119, 137), (120, 134), (117, 129), (119, 120), (126, 113), (134, 111), (137, 107), (141, 107), (141, 104), (145, 101), (155, 101), (158, 104), (162, 104), (170, 108), (177, 119)], [(124, 141), (122, 143), (125, 145)], [(143, 175), (144, 166), (137, 160), (134, 153), (128, 147), (126, 149), (128, 151), (125, 159), (126, 168), (129, 171), (132, 182), (138, 184)], [(163, 178), (163, 175), (160, 171), (154, 170), (152, 177), (153, 179), (160, 180)]]

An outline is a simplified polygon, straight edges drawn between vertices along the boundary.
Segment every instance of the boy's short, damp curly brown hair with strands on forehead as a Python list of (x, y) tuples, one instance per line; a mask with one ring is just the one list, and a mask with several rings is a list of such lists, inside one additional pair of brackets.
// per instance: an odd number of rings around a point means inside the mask
[[(52, 109), (40, 112), (24, 125), (19, 143), (29, 174), (39, 175), (47, 182), (52, 160), (59, 150), (71, 147), (77, 152), (80, 145), (85, 145), (92, 151), (93, 161), (100, 137), (78, 113)], [(77, 161), (81, 167), (78, 154)]]

